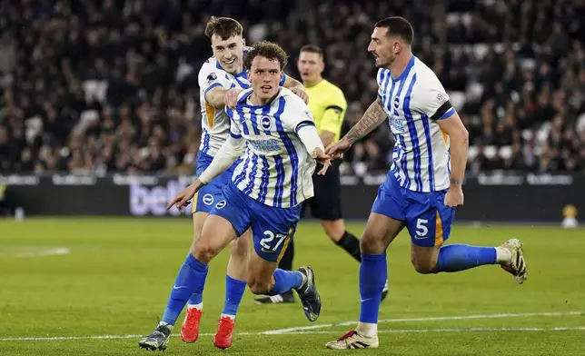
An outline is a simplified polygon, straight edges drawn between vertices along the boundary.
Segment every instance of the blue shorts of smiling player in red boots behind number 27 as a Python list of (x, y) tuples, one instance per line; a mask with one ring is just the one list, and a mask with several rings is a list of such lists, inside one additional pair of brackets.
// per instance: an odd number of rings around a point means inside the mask
[[(199, 151), (199, 153), (197, 153), (197, 170), (195, 171), (195, 174), (200, 176), (212, 161), (212, 156)], [(223, 187), (232, 180), (233, 170), (235, 170), (235, 167), (239, 162), (240, 159), (238, 158), (238, 160), (233, 163), (227, 171), (215, 177), (215, 179), (209, 184), (203, 185), (195, 196), (192, 213), (210, 213), (212, 211), (213, 203), (217, 203), (223, 199)]]

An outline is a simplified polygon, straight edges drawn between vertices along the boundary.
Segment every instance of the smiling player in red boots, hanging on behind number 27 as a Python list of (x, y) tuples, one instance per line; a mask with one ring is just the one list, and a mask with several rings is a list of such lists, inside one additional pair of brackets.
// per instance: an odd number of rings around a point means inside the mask
[[(203, 64), (198, 75), (203, 135), (199, 153), (197, 153), (197, 175), (203, 173), (209, 166), (213, 156), (217, 154), (229, 136), (230, 119), (223, 111), (224, 105), (235, 104), (237, 94), (250, 86), (243, 68), (243, 53), (246, 48), (242, 25), (229, 17), (212, 17), (205, 27), (205, 35), (211, 39), (213, 57)], [(307, 100), (307, 94), (304, 93), (303, 86), (298, 81), (283, 74), (280, 84), (289, 87), (302, 100)], [(193, 201), (191, 254), (193, 254), (195, 245), (201, 236), (203, 222), (211, 212), (213, 203), (223, 200), (223, 186), (230, 181), (235, 166), (236, 164), (233, 164), (212, 183), (204, 186)], [(250, 232), (245, 232), (242, 239), (237, 239), (233, 243), (225, 276), (223, 312), (213, 340), (215, 344), (220, 346), (231, 342), (228, 335), (232, 334), (233, 321), (242, 301), (243, 292), (245, 292), (249, 241)], [(178, 273), (161, 324), (172, 331), (174, 323), (188, 300), (187, 312), (181, 327), (181, 337), (185, 342), (195, 342), (199, 337), (203, 295), (201, 292), (194, 292), (193, 295), (187, 294), (184, 289), (177, 288), (187, 273), (184, 270), (189, 268), (187, 261), (183, 263), (183, 267)], [(151, 349), (166, 347), (166, 344), (160, 345), (156, 340), (151, 334), (141, 339), (139, 345)]]

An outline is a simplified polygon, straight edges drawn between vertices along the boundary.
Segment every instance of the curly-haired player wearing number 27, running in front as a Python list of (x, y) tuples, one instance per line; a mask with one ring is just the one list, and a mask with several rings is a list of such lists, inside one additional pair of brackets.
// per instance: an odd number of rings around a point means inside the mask
[[(301, 203), (312, 196), (311, 174), (315, 160), (323, 163), (322, 173), (331, 164), (314, 126), (311, 113), (301, 98), (280, 87), (286, 54), (277, 44), (261, 42), (245, 57), (251, 89), (237, 98), (230, 116), (230, 135), (195, 183), (177, 194), (167, 209), (181, 209), (195, 193), (228, 170), (238, 157), (232, 179), (223, 188), (222, 200), (203, 223), (203, 231), (187, 256), (183, 278), (174, 288), (202, 293), (208, 264), (230, 242), (252, 228), (253, 256), (248, 286), (253, 293), (268, 295), (294, 289), (302, 301), (305, 316), (315, 321), (321, 298), (311, 267), (298, 271), (277, 269), (281, 252), (292, 239), (300, 218)], [(152, 340), (164, 346), (170, 330), (160, 324)], [(232, 332), (221, 349), (232, 344)]]

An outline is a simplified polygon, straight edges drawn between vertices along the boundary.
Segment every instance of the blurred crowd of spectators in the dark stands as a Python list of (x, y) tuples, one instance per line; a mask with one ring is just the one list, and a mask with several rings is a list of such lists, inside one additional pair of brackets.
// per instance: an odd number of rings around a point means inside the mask
[[(470, 131), (471, 173), (585, 170), (580, 0), (0, 0), (0, 173), (192, 172), (210, 15), (283, 45), (297, 78), (301, 46), (322, 46), (345, 131), (376, 95), (372, 25), (402, 15)], [(391, 140), (356, 143), (345, 172), (386, 170)]]

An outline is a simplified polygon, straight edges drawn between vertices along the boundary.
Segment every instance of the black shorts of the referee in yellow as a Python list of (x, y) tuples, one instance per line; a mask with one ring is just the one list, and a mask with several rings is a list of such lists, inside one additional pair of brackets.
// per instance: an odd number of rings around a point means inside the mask
[(339, 177), (340, 161), (334, 161), (325, 175), (318, 175), (322, 168), (317, 164), (312, 174), (314, 196), (302, 203), (302, 217), (307, 206), (310, 206), (311, 215), (319, 220), (335, 221), (342, 219), (342, 183)]

